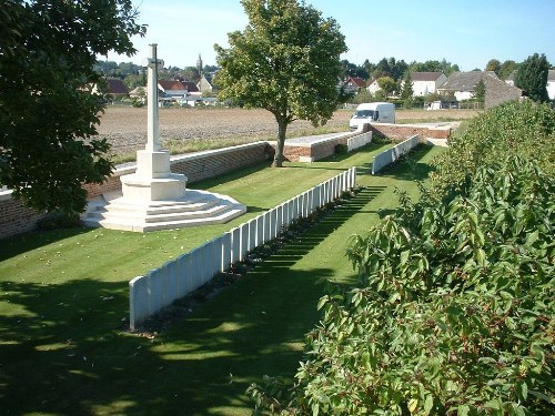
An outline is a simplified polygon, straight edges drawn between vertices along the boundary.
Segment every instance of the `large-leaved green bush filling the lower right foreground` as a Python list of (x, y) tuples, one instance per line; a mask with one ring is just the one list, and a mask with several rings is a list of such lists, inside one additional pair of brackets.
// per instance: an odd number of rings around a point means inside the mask
[(324, 296), (283, 415), (554, 414), (555, 182), (519, 158), (467, 197), (387, 216), (349, 251), (359, 287)]

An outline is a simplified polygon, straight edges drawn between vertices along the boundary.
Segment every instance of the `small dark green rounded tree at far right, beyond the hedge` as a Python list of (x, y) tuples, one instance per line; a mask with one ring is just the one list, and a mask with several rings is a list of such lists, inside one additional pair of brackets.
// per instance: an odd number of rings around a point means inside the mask
[(538, 102), (548, 102), (547, 74), (549, 63), (545, 54), (534, 53), (528, 57), (516, 71), (515, 85), (524, 91), (529, 99)]

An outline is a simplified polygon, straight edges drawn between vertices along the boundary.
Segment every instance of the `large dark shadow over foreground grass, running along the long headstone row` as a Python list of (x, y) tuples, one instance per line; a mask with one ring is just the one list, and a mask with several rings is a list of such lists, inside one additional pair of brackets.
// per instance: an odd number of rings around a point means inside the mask
[[(246, 387), (291, 377), (319, 321), (319, 245), (382, 189), (365, 189), (191, 315), (154, 337), (123, 331), (128, 290), (73, 280), (0, 282), (17, 313), (0, 316), (4, 414), (249, 414)], [(294, 265), (301, 258), (313, 267)]]

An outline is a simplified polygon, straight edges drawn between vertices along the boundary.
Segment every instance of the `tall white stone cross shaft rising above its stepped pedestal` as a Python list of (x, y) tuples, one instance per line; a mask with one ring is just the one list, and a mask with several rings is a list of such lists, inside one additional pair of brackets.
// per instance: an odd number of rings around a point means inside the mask
[(145, 150), (158, 152), (161, 149), (158, 119), (158, 67), (163, 67), (164, 61), (157, 58), (157, 44), (150, 44), (150, 58), (143, 61), (149, 68), (148, 72), (148, 139)]

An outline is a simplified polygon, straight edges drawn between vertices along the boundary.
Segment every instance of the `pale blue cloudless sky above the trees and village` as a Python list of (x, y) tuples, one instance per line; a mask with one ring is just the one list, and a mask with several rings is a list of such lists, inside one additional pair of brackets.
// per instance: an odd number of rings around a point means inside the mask
[[(442, 60), (463, 71), (545, 53), (555, 65), (554, 0), (306, 0), (333, 18), (345, 35), (342, 55), (362, 64), (394, 57), (411, 61)], [(165, 67), (215, 64), (214, 43), (228, 45), (228, 33), (248, 23), (239, 0), (134, 0), (145, 38), (133, 38), (138, 53), (109, 54), (117, 62), (141, 63), (148, 45), (158, 43)]]

